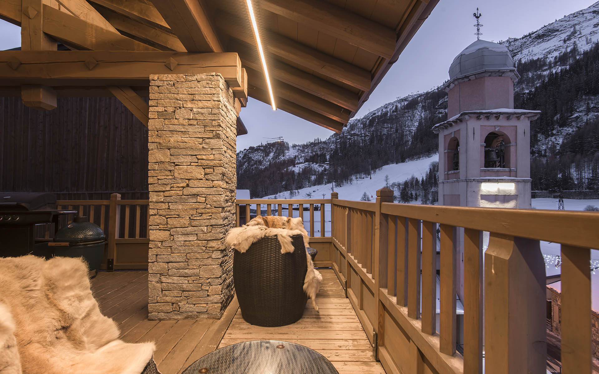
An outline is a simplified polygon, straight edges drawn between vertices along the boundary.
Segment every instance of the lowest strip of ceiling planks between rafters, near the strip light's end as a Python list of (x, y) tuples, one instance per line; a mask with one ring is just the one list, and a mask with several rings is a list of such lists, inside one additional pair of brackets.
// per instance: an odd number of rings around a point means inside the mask
[[(267, 91), (264, 74), (254, 69), (248, 69), (248, 83), (254, 87), (258, 87), (263, 91)], [(332, 118), (335, 121), (341, 123), (347, 123), (349, 121), (349, 110), (340, 107), (339, 105), (332, 104), (324, 99), (320, 99), (317, 96), (310, 95), (300, 89), (295, 88), (289, 84), (276, 81), (274, 82), (274, 93), (279, 98), (286, 99), (291, 102), (295, 102), (304, 108), (311, 111), (326, 115), (326, 117)]]

